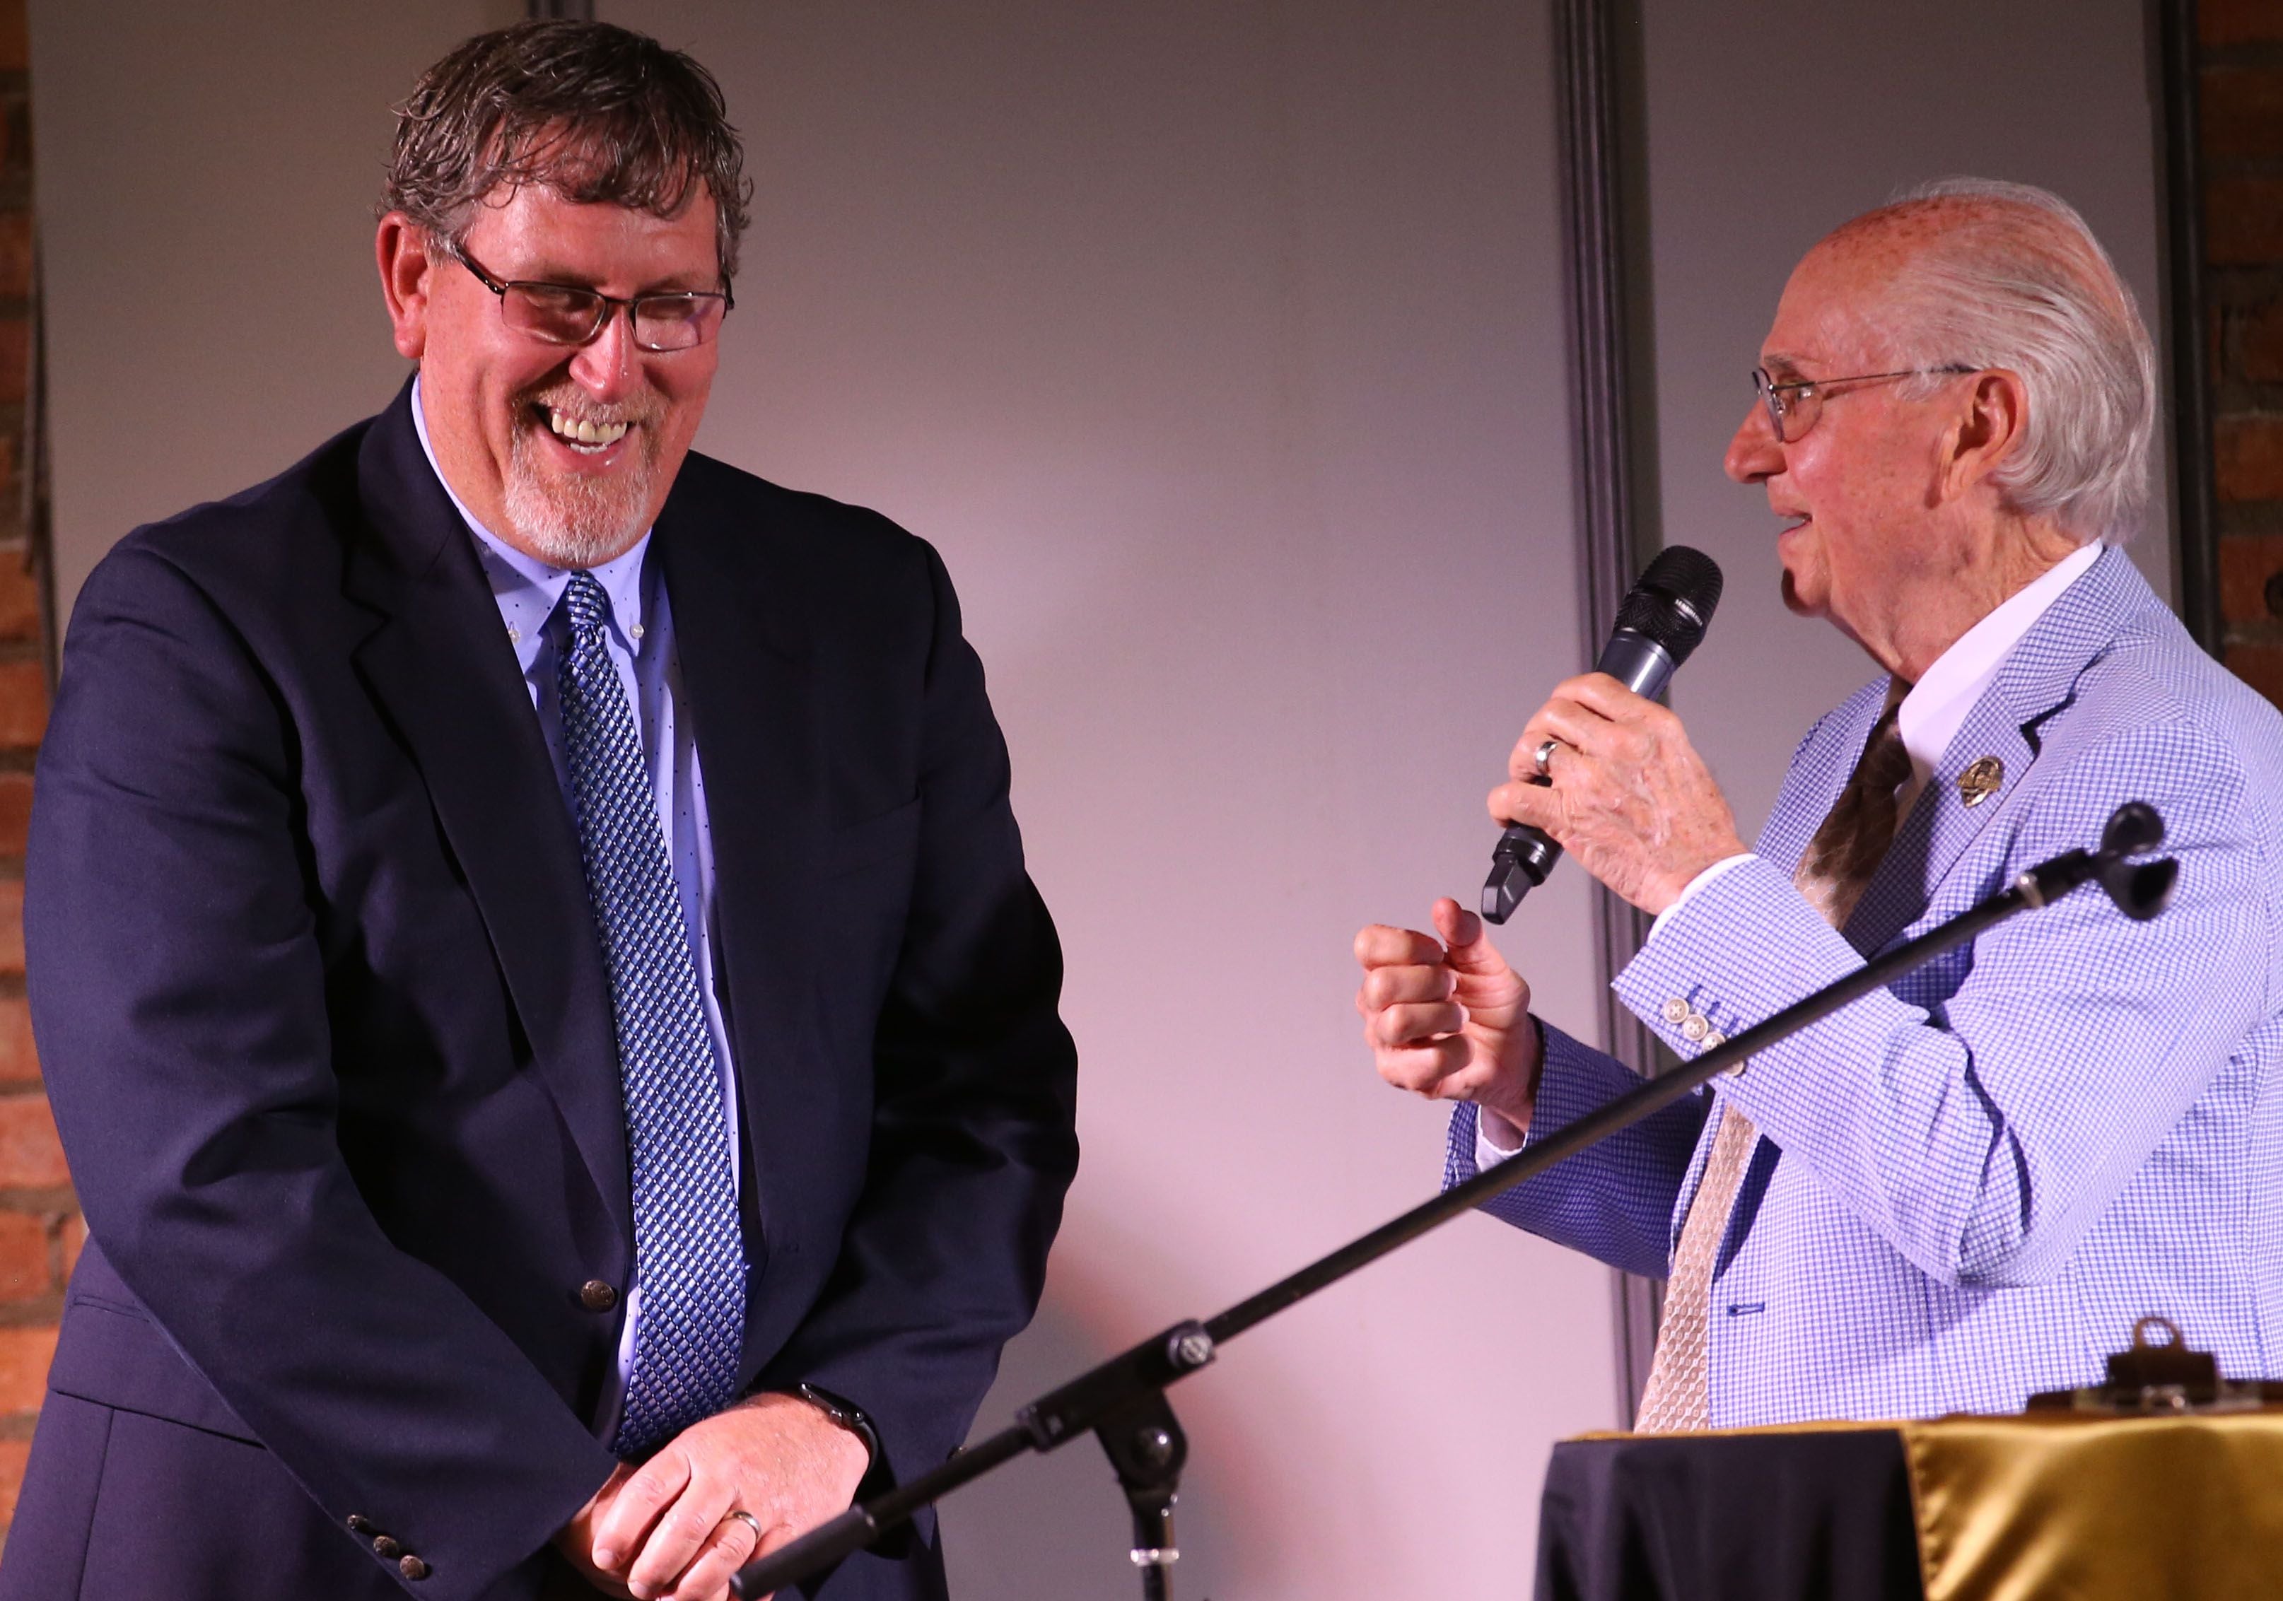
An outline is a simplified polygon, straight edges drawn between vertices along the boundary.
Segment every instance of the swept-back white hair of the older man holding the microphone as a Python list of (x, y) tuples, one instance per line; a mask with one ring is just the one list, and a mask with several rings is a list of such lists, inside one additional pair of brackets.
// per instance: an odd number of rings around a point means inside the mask
[(1840, 233), (1931, 210), (1941, 226), (1883, 297), (1897, 365), (2018, 372), (2030, 416), (1991, 475), (2004, 505), (2080, 544), (2128, 539), (2148, 502), (2157, 395), (2132, 290), (2084, 217), (2027, 183), (1938, 178)]

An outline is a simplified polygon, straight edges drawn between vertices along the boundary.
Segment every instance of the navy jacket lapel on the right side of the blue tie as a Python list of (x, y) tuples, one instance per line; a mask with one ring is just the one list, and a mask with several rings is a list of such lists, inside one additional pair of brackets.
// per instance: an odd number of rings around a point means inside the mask
[[(699, 470), (692, 470), (699, 468)], [(833, 1121), (820, 1083), (815, 904), (826, 772), (824, 717), (785, 534), (710, 505), (683, 468), (653, 534), (673, 608), (683, 706), (705, 765), (715, 856), (715, 968), (751, 1140), (751, 1190), (772, 1249), (801, 1238), (804, 1128)], [(822, 1108), (810, 1101), (822, 1096)]]

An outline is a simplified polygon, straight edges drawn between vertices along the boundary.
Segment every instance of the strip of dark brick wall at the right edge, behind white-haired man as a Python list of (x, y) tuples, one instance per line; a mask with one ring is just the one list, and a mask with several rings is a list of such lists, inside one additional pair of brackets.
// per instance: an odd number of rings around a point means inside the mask
[(2196, 21), (2226, 662), (2283, 706), (2283, 0)]

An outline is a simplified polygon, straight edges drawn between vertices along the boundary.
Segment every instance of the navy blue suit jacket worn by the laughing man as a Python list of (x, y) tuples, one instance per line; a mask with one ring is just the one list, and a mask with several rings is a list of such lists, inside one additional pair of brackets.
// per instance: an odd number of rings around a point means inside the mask
[[(1007, 751), (886, 518), (692, 454), (655, 555), (749, 1156), (742, 1375), (856, 1402), (909, 1478), (1032, 1316), (1078, 1160)], [(557, 1583), (612, 1469), (621, 1309), (580, 1288), (632, 1268), (610, 993), (409, 393), (87, 580), (25, 936), (91, 1242), (0, 1596)], [(941, 1585), (920, 1539), (824, 1594)]]

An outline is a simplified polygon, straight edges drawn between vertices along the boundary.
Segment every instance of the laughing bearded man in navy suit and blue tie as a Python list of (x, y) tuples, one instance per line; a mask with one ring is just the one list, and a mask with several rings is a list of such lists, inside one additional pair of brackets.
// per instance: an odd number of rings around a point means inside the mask
[[(416, 381), (87, 580), (0, 1596), (719, 1596), (1032, 1316), (1055, 932), (934, 550), (689, 454), (744, 199), (692, 59), (473, 39), (379, 224)], [(822, 1594), (943, 1594), (931, 1526)]]

